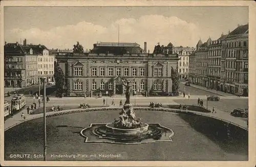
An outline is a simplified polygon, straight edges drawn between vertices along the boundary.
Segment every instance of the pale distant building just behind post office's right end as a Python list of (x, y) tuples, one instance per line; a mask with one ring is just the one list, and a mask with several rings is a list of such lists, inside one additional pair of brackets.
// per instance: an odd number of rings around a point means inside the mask
[(189, 73), (189, 55), (191, 55), (196, 49), (194, 47), (173, 47), (173, 53), (179, 55), (178, 72), (180, 80), (188, 79)]

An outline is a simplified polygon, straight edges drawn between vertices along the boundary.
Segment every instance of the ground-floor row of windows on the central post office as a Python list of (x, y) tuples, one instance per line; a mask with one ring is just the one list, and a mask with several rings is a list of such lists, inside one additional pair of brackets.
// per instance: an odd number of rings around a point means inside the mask
[[(100, 90), (105, 90), (105, 83), (104, 82), (100, 82)], [(137, 90), (137, 83), (134, 82), (132, 85), (132, 90)], [(162, 83), (161, 82), (155, 82), (154, 83), (154, 90), (162, 90)], [(109, 82), (108, 83), (108, 90), (113, 90), (113, 83)], [(74, 90), (82, 90), (83, 89), (83, 83), (82, 82), (74, 82)], [(96, 82), (92, 82), (92, 90), (96, 90), (97, 89), (97, 83)], [(124, 87), (125, 89), (125, 87)], [(140, 82), (140, 90), (144, 90), (145, 89), (145, 83), (144, 82)]]

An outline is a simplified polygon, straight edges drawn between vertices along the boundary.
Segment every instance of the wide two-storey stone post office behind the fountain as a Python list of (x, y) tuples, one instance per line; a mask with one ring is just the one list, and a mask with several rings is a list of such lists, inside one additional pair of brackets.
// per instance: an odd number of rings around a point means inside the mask
[(134, 80), (133, 91), (172, 92), (171, 69), (177, 69), (177, 54), (147, 54), (137, 43), (94, 44), (91, 53), (57, 53), (65, 74), (67, 96), (84, 93), (122, 94), (121, 80)]

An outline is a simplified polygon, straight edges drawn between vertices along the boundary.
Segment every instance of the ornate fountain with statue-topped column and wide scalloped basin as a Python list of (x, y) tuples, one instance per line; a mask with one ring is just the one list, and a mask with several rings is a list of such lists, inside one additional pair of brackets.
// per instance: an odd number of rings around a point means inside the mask
[[(122, 80), (126, 87), (125, 98), (121, 112), (119, 112), (119, 120), (114, 119), (112, 123), (91, 124), (90, 127), (81, 131), (81, 135), (86, 137), (93, 134), (98, 136), (98, 140), (102, 142), (111, 142), (119, 144), (138, 144), (151, 142), (155, 140), (172, 140), (173, 131), (160, 124), (146, 124), (141, 122), (141, 118), (136, 119), (135, 111), (130, 103), (130, 88), (134, 81)], [(165, 134), (162, 136), (162, 134)], [(97, 140), (95, 137), (94, 140)], [(93, 139), (91, 139), (93, 140)], [(93, 141), (92, 141), (93, 142)]]

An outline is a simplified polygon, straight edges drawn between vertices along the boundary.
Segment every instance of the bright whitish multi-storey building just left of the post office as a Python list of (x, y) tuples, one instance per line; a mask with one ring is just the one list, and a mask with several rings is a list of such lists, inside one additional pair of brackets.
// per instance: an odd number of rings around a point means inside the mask
[(55, 56), (49, 55), (47, 49), (42, 50), (42, 54), (37, 56), (37, 73), (39, 78), (46, 77), (47, 82), (54, 81), (54, 59)]

